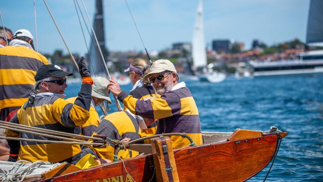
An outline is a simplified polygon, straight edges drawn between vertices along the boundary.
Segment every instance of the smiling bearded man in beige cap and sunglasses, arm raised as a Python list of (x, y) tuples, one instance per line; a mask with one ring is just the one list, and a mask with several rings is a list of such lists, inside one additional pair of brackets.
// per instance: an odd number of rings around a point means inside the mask
[[(200, 118), (191, 92), (184, 82), (178, 83), (174, 65), (169, 60), (157, 60), (151, 71), (144, 77), (148, 78), (161, 98), (140, 100), (121, 91), (119, 85), (110, 80), (109, 91), (123, 102), (133, 114), (144, 118), (159, 119), (157, 134), (185, 132), (196, 145), (202, 144)], [(171, 137), (173, 148), (189, 145), (188, 140), (181, 136)]]

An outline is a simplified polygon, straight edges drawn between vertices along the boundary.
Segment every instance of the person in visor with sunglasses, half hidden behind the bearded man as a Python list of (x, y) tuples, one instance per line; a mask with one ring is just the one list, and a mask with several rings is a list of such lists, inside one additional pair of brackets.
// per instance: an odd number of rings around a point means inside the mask
[[(160, 94), (155, 93), (155, 90), (148, 80), (144, 80), (144, 76), (150, 72), (150, 67), (143, 59), (135, 59), (131, 62), (129, 68), (125, 69), (129, 78), (134, 85), (129, 95), (139, 99), (154, 99), (159, 98)], [(125, 109), (127, 107), (124, 107)], [(143, 129), (143, 128), (142, 128)], [(147, 129), (143, 129), (142, 137), (155, 135), (157, 130), (157, 122), (147, 126)], [(148, 143), (147, 141), (145, 143)]]

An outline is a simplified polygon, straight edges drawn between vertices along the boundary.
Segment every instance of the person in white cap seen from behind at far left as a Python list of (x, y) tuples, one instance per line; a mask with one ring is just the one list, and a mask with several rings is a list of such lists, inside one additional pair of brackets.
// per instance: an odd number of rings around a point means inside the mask
[(27, 101), (34, 76), (44, 64), (48, 60), (34, 51), (33, 36), (26, 29), (17, 30), (9, 46), (0, 49), (0, 120), (10, 120)]

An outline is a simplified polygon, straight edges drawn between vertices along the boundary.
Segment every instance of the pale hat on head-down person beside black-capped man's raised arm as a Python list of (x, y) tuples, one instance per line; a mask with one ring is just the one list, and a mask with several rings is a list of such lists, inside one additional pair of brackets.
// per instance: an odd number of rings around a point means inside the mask
[(109, 84), (110, 84), (110, 81), (108, 81), (104, 77), (94, 77), (91, 95), (97, 98), (105, 99), (109, 103), (111, 103), (111, 99), (109, 97), (108, 88), (107, 88)]

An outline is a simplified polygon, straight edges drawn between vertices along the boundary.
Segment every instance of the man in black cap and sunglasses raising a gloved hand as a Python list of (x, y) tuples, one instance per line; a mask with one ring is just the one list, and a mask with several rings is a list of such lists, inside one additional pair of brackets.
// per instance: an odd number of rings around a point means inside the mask
[[(57, 65), (43, 65), (35, 75), (36, 84), (28, 97), (28, 101), (17, 111), (10, 122), (80, 134), (80, 126), (89, 117), (93, 84), (83, 59), (82, 57), (78, 64), (82, 77), (82, 86), (74, 104), (63, 99), (65, 96), (64, 91), (67, 88), (66, 76), (72, 76), (73, 74), (62, 71)], [(6, 136), (58, 140), (11, 130), (6, 131)], [(81, 155), (80, 145), (7, 141), (10, 147), (9, 161), (18, 159), (30, 162), (48, 161), (51, 163), (69, 162), (75, 164)]]

